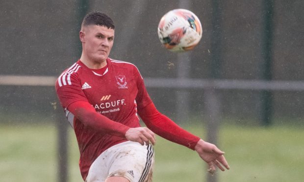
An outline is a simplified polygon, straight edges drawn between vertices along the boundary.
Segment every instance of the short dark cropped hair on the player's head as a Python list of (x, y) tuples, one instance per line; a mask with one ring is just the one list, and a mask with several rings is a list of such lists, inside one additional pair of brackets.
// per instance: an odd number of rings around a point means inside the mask
[(89, 14), (87, 14), (81, 23), (81, 27), (87, 26), (87, 25), (99, 25), (99, 26), (105, 26), (107, 28), (114, 29), (114, 22), (113, 20), (106, 15), (105, 13), (102, 13), (100, 11), (94, 11)]

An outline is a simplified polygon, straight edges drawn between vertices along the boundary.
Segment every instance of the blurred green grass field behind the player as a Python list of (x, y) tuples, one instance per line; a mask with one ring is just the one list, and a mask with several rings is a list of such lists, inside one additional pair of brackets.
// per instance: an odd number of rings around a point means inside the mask
[[(186, 128), (204, 137), (203, 126)], [(303, 129), (222, 126), (219, 146), (231, 169), (218, 171), (218, 182), (303, 182)], [(56, 182), (56, 137), (52, 125), (0, 125), (0, 181)], [(72, 130), (69, 138), (69, 181), (82, 182)], [(205, 164), (194, 151), (159, 137), (154, 149), (154, 182), (205, 181)]]

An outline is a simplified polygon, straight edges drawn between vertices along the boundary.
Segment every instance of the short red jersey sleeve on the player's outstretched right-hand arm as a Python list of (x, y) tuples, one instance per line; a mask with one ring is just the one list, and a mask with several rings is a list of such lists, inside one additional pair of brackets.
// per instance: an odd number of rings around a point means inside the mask
[(150, 103), (152, 103), (152, 100), (146, 89), (144, 79), (136, 67), (134, 68), (134, 75), (136, 78), (137, 89), (138, 89), (138, 93), (135, 98), (137, 108), (144, 108), (144, 107), (148, 106)]

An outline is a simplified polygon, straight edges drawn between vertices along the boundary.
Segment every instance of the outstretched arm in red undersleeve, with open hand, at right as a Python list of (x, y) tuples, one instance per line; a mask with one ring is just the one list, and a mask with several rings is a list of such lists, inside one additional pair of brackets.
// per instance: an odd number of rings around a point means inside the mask
[(214, 173), (215, 166), (220, 168), (222, 171), (225, 170), (223, 166), (229, 169), (228, 162), (223, 156), (224, 152), (218, 149), (214, 144), (205, 142), (200, 137), (197, 137), (179, 127), (170, 118), (159, 113), (153, 103), (138, 110), (138, 114), (148, 128), (160, 137), (195, 150), (199, 156), (208, 163), (208, 171), (210, 173)]

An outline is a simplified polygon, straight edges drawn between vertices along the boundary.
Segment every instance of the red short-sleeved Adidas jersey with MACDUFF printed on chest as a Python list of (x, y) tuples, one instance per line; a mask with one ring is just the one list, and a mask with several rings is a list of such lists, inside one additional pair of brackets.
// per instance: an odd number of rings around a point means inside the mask
[(107, 148), (126, 138), (92, 131), (69, 112), (76, 101), (87, 101), (96, 112), (128, 127), (140, 127), (137, 107), (152, 102), (138, 69), (130, 63), (107, 59), (107, 69), (98, 74), (80, 60), (66, 69), (56, 81), (56, 92), (75, 130), (80, 151), (80, 170), (87, 173), (93, 161)]

